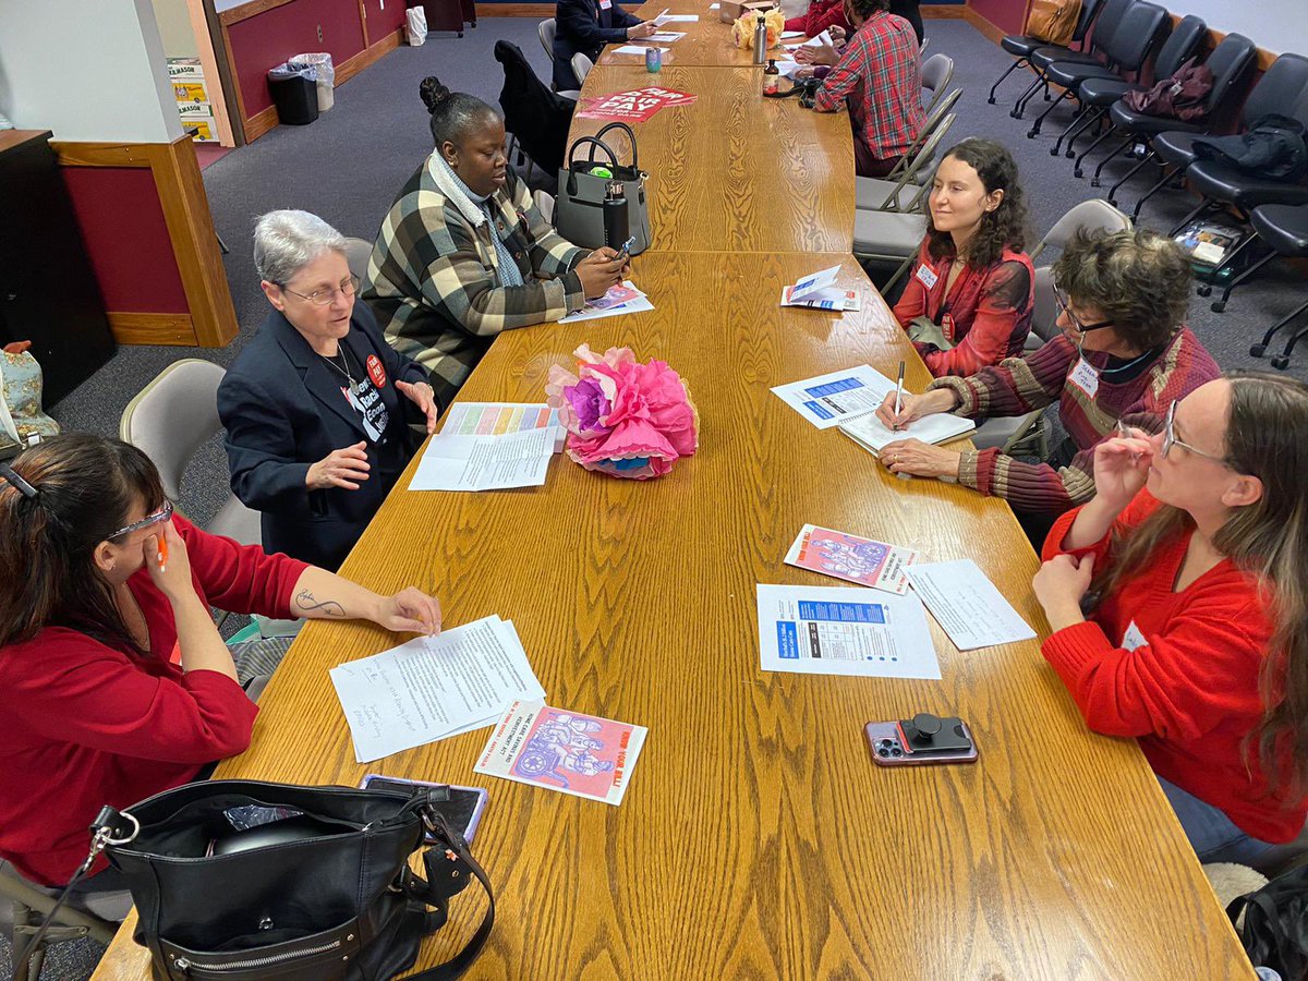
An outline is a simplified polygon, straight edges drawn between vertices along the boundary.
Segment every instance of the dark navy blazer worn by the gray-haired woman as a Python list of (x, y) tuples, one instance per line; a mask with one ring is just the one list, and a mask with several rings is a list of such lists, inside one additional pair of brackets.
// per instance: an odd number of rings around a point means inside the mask
[(416, 361), (386, 343), (365, 303), (354, 303), (341, 344), (360, 365), (375, 356), (386, 374), (378, 392), (390, 422), (381, 443), (368, 447), (371, 470), (357, 490), (305, 487), (309, 464), (368, 436), (341, 395), (340, 375), (281, 313), (268, 313), (218, 386), (232, 490), (262, 513), (263, 549), (331, 570), (345, 559), (413, 455), (416, 439), (408, 424), (425, 422), (417, 405), (395, 391), (395, 379), (428, 381)]

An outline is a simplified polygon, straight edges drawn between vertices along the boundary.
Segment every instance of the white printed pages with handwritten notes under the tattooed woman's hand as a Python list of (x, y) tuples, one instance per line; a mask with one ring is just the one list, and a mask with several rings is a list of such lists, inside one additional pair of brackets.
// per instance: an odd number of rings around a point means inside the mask
[(371, 763), (492, 725), (515, 698), (544, 698), (511, 623), (488, 616), (330, 672), (354, 759)]

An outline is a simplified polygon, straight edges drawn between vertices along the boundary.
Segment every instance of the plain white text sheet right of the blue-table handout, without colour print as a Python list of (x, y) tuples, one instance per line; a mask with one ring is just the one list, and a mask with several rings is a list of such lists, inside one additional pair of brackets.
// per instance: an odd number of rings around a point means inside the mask
[(1012, 644), (1036, 636), (971, 559), (906, 566), (913, 591), (959, 650)]

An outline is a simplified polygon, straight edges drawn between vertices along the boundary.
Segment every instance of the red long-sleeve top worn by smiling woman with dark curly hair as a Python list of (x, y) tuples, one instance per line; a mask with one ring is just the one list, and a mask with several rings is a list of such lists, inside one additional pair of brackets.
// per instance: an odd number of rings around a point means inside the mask
[(895, 318), (908, 327), (914, 317), (929, 317), (954, 344), (940, 351), (914, 343), (927, 369), (944, 374), (976, 374), (986, 365), (1022, 354), (1036, 309), (1036, 271), (1025, 252), (1005, 249), (999, 262), (984, 269), (965, 266), (946, 294), (951, 256), (933, 259), (923, 241)]

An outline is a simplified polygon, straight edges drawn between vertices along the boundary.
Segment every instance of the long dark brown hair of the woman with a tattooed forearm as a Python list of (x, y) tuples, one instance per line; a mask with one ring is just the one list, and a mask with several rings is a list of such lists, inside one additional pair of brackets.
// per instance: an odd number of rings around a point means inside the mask
[(133, 508), (162, 505), (149, 456), (120, 439), (71, 433), (24, 450), (12, 467), (35, 496), (0, 480), (0, 646), (67, 627), (144, 654), (94, 552)]

